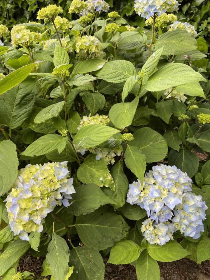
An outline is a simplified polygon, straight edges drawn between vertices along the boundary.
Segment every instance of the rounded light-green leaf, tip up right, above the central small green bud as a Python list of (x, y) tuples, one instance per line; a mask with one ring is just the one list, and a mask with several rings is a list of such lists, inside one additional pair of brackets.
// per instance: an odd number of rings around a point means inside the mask
[(138, 106), (139, 97), (136, 97), (132, 102), (117, 103), (112, 106), (109, 111), (110, 121), (120, 129), (131, 125), (136, 108)]

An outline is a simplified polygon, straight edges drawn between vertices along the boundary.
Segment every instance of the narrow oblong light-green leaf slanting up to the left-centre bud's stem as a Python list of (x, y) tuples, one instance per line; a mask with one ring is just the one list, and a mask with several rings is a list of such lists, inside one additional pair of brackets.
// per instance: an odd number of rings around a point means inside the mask
[(63, 109), (64, 101), (52, 104), (41, 110), (34, 119), (35, 124), (44, 123), (45, 120), (57, 117)]

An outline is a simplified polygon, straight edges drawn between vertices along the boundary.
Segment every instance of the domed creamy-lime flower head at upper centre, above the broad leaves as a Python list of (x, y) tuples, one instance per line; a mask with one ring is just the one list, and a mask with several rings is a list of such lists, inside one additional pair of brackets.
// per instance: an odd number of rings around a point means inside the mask
[(102, 45), (100, 41), (95, 36), (84, 35), (82, 37), (77, 37), (75, 43), (76, 43), (77, 53), (80, 50), (83, 50), (84, 52), (88, 51), (89, 53), (91, 52), (97, 53), (102, 49)]

